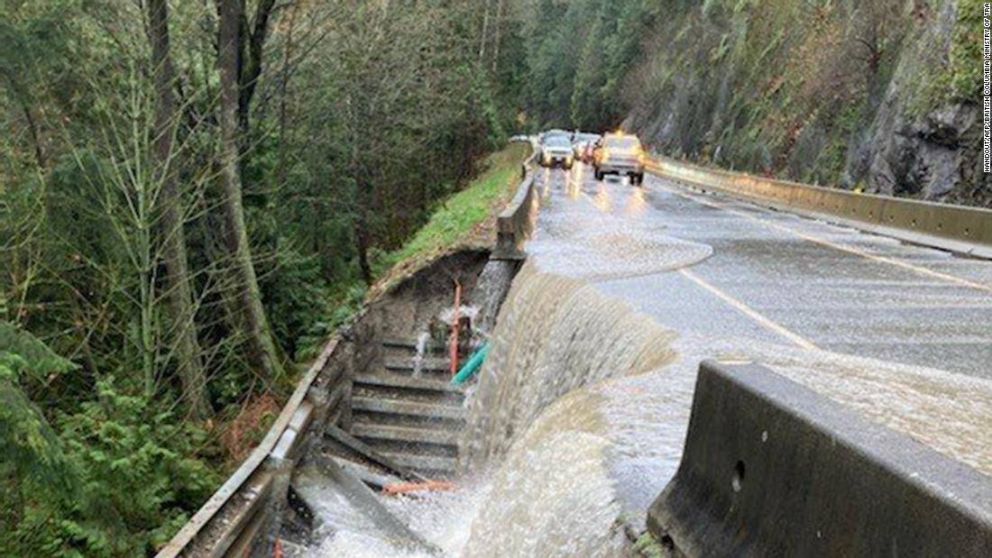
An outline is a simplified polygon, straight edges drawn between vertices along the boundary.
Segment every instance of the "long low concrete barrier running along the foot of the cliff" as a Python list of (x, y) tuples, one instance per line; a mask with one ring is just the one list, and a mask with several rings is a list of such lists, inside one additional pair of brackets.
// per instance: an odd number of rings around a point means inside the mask
[(698, 188), (959, 254), (992, 258), (992, 210), (857, 193), (657, 158), (648, 169)]

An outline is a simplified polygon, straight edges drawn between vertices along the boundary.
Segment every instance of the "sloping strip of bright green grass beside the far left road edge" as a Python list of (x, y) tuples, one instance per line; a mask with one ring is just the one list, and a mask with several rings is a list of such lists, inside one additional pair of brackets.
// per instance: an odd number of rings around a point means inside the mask
[(495, 206), (513, 196), (520, 165), (530, 148), (514, 144), (486, 160), (486, 170), (464, 189), (445, 199), (407, 244), (383, 259), (383, 270), (457, 245), (492, 216)]

